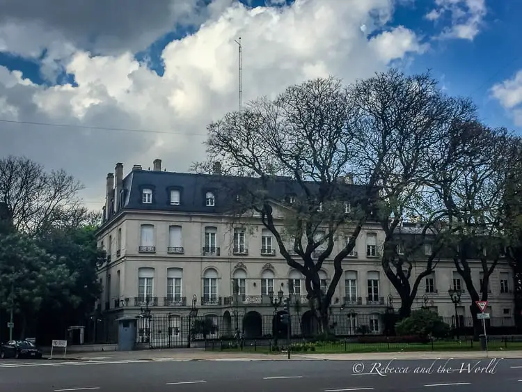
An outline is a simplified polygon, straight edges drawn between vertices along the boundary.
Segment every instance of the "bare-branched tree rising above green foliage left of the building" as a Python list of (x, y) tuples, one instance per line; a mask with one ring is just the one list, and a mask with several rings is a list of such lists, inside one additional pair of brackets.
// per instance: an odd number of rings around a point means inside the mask
[(46, 172), (25, 157), (0, 159), (0, 203), (13, 226), (29, 235), (40, 235), (63, 224), (80, 206), (82, 185), (63, 170)]

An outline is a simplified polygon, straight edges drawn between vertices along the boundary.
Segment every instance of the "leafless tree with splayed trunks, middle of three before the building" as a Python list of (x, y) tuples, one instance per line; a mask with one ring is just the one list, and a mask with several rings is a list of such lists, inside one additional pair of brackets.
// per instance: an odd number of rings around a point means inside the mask
[[(385, 234), (381, 265), (400, 295), (400, 315), (407, 317), (441, 249), (437, 226), (441, 211), (428, 207), (425, 199), (432, 154), (447, 139), (455, 121), (474, 118), (475, 108), (468, 100), (443, 95), (429, 73), (406, 76), (397, 70), (356, 83), (351, 97), (359, 131), (354, 137), (358, 156), (351, 164), (358, 182), (372, 181), (377, 175), (378, 221)], [(377, 162), (381, 162), (379, 171), (374, 170)], [(415, 235), (404, 235), (403, 222), (412, 220), (421, 221), (422, 228)], [(426, 256), (419, 250), (427, 236), (434, 246)], [(404, 252), (397, 252), (404, 245)], [(419, 257), (425, 267), (411, 281)]]

